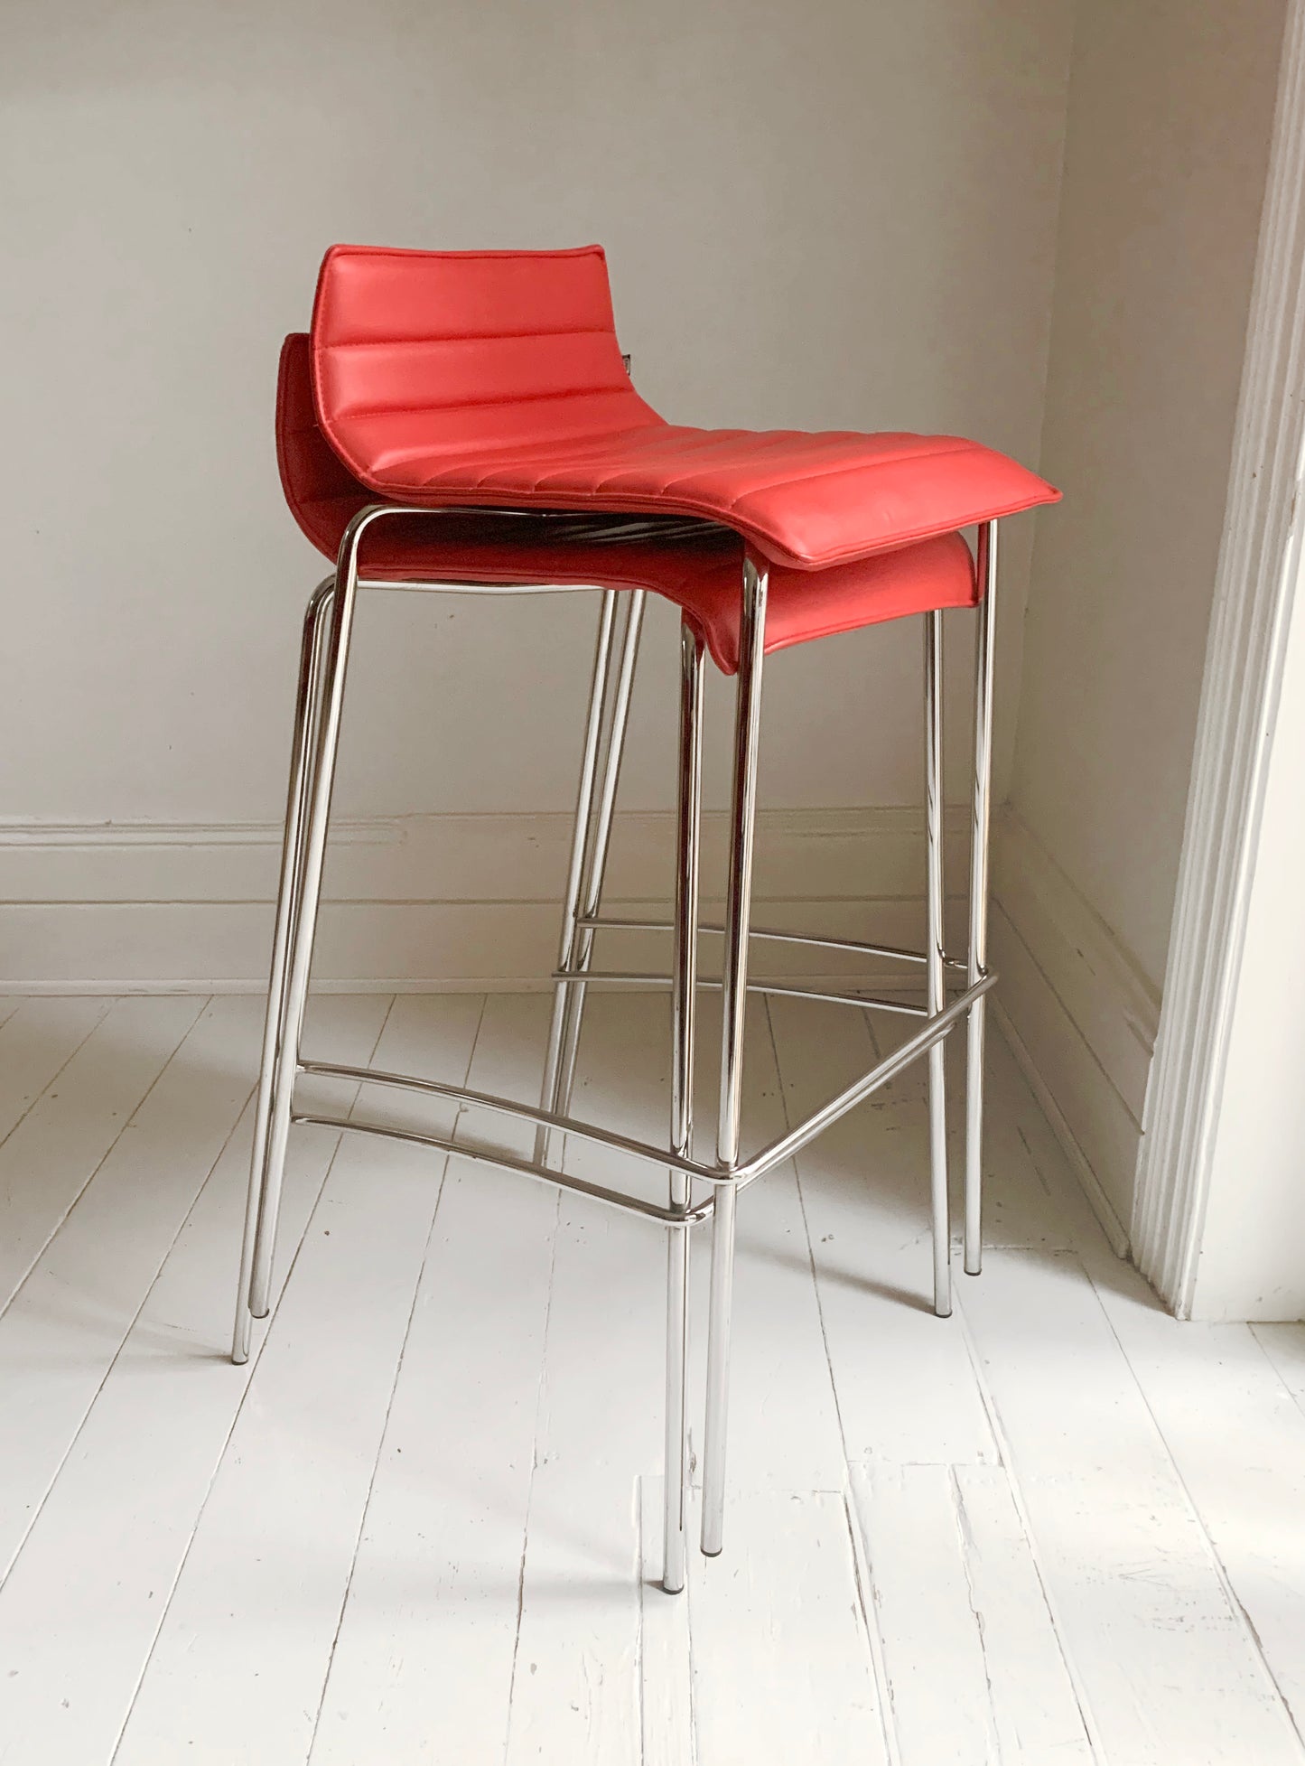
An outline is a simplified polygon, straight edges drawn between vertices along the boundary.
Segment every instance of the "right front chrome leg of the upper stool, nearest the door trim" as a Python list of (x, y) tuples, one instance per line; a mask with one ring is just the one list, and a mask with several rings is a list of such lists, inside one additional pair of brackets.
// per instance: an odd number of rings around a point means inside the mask
[[(987, 966), (987, 834), (992, 796), (992, 653), (996, 645), (998, 525), (978, 530), (975, 657), (975, 796), (969, 826), (969, 985)], [(987, 994), (966, 1023), (966, 1275), (984, 1266), (984, 1028)]]

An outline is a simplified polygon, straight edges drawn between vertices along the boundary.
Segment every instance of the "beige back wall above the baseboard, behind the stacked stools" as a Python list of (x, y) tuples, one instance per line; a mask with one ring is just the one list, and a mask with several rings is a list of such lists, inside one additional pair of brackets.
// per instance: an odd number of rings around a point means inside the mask
[[(637, 383), (680, 420), (964, 431), (1035, 463), (1068, 11), (11, 0), (0, 818), (279, 814), (321, 565), (272, 390), (330, 240), (597, 238)], [(563, 807), (590, 627), (369, 611), (343, 812)], [(652, 638), (634, 805), (668, 802), (666, 615)], [(915, 800), (917, 703), (913, 629), (775, 666), (766, 800)]]

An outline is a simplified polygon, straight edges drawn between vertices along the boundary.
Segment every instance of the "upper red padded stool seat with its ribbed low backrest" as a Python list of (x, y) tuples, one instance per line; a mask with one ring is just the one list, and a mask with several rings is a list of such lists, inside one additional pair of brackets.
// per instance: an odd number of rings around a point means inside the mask
[(796, 570), (1058, 500), (954, 436), (683, 429), (630, 385), (597, 245), (334, 245), (313, 309), (316, 413), (381, 498), (675, 514)]

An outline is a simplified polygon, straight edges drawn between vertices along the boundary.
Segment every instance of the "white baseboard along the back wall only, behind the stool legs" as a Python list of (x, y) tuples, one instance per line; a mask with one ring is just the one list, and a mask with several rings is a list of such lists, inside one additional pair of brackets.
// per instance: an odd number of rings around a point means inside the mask
[[(955, 812), (954, 895), (964, 890), (964, 812)], [(540, 985), (556, 952), (569, 841), (567, 814), (334, 825), (314, 985)], [(703, 909), (712, 920), (724, 816), (705, 818), (703, 846)], [(0, 825), (0, 992), (260, 992), (279, 849), (272, 825)], [(607, 911), (664, 915), (673, 851), (669, 812), (618, 816)], [(922, 948), (922, 874), (915, 809), (763, 812), (754, 922)], [(954, 936), (962, 936), (961, 915)], [(666, 955), (664, 941), (630, 934), (613, 962), (664, 968)], [(814, 978), (800, 950), (773, 947), (765, 961), (761, 973)], [(872, 985), (902, 978), (901, 968), (867, 973), (853, 959), (841, 973)]]

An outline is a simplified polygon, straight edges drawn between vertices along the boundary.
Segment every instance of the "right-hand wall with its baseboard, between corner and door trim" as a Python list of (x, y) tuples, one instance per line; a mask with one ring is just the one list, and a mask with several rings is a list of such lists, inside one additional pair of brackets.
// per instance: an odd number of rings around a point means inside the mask
[[(1268, 166), (1282, 0), (1082, 0), (994, 941), (1125, 1241)], [(1014, 918), (1012, 918), (1014, 915)]]

